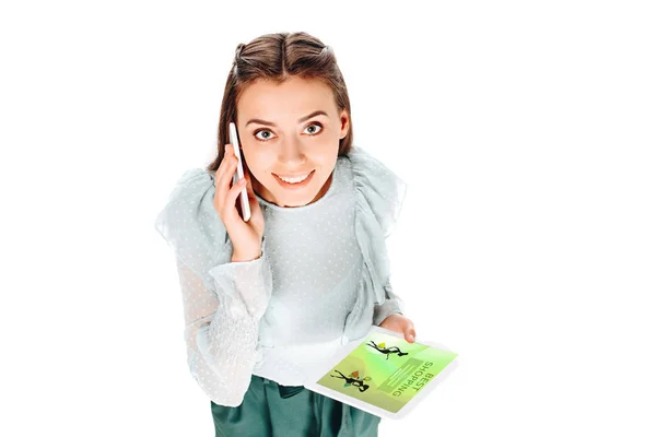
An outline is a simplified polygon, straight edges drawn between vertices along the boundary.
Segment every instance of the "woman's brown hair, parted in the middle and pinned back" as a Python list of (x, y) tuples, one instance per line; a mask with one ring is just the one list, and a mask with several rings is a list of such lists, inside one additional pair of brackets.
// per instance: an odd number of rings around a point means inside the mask
[(230, 143), (227, 126), (236, 120), (237, 99), (242, 92), (258, 79), (282, 83), (292, 75), (318, 79), (330, 86), (338, 113), (345, 109), (349, 117), (349, 132), (339, 141), (338, 155), (345, 155), (351, 151), (353, 143), (351, 102), (332, 48), (305, 32), (281, 32), (262, 35), (248, 44), (237, 45), (221, 103), (219, 154), (207, 167), (208, 170), (216, 172), (221, 164), (225, 144)]

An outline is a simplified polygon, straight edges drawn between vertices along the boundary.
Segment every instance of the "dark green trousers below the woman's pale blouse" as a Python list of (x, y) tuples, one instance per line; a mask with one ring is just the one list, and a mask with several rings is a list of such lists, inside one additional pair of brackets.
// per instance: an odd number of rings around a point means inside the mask
[(380, 417), (315, 393), (253, 375), (238, 406), (211, 402), (216, 437), (372, 437)]

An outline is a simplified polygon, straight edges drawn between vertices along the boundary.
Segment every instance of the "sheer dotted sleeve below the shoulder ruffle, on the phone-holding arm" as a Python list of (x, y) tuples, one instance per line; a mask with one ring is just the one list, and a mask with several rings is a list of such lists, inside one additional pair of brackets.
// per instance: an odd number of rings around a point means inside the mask
[(259, 320), (271, 297), (266, 257), (227, 262), (209, 271), (215, 293), (179, 258), (187, 363), (194, 379), (216, 404), (237, 406), (257, 362)]

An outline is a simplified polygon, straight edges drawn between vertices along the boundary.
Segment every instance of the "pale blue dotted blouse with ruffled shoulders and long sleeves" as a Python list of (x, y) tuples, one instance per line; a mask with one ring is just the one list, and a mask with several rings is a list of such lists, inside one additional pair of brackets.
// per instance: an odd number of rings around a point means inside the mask
[(258, 196), (262, 256), (231, 262), (232, 243), (213, 206), (214, 173), (181, 176), (155, 228), (178, 269), (189, 369), (214, 403), (239, 405), (251, 374), (302, 386), (339, 347), (402, 314), (385, 239), (406, 189), (354, 146), (338, 157), (316, 202), (281, 208)]

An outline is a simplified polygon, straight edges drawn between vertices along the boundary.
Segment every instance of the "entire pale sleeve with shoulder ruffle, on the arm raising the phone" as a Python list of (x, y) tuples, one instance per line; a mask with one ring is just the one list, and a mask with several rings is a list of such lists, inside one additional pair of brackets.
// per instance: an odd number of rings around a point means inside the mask
[(175, 258), (189, 370), (214, 403), (237, 406), (260, 356), (259, 320), (271, 297), (271, 269), (266, 238), (260, 258), (231, 262), (232, 244), (213, 198), (210, 174), (187, 172), (155, 228)]

